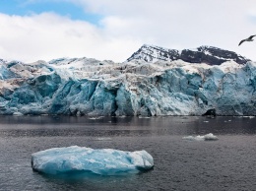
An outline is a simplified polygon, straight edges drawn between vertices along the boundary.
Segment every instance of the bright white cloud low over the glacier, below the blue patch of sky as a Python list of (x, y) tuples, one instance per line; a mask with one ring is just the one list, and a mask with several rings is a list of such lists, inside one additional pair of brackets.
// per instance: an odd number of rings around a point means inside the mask
[(0, 28), (0, 57), (26, 62), (84, 56), (124, 61), (139, 45), (132, 38), (113, 37), (90, 23), (53, 13), (26, 17), (0, 14)]

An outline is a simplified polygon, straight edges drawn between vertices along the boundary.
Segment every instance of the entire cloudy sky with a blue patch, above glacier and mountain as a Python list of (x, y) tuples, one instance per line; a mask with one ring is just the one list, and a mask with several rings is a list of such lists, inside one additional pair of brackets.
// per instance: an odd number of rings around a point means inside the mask
[(123, 62), (143, 44), (216, 46), (256, 61), (255, 0), (0, 0), (0, 58)]

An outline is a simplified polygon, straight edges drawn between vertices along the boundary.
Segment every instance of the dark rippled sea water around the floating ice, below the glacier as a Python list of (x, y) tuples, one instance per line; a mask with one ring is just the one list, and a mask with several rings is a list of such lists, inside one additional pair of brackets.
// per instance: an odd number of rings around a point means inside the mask
[[(218, 141), (182, 137), (213, 133)], [(122, 176), (32, 171), (32, 153), (146, 150), (153, 170)], [(0, 190), (256, 190), (256, 118), (0, 116)]]

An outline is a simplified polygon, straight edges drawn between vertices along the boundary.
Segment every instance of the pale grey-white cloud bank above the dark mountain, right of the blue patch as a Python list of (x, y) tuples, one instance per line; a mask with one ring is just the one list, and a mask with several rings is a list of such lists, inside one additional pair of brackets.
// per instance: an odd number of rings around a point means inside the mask
[(253, 0), (72, 1), (102, 14), (101, 25), (115, 35), (178, 49), (214, 45), (256, 60), (255, 43), (237, 46), (241, 38), (255, 32), (249, 18), (256, 13)]

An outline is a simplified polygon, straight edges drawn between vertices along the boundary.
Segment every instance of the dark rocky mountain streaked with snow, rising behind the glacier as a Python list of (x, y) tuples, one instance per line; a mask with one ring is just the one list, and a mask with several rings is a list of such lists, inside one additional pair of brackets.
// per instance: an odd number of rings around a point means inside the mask
[(206, 63), (209, 65), (221, 65), (230, 60), (238, 64), (245, 64), (247, 61), (250, 61), (235, 52), (213, 46), (175, 50), (147, 44), (144, 44), (138, 51), (133, 53), (127, 61), (144, 60), (146, 62), (156, 62), (159, 60), (174, 61), (178, 59), (189, 63)]

